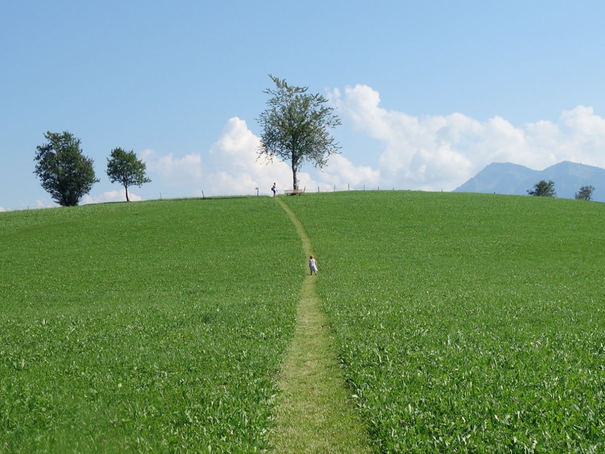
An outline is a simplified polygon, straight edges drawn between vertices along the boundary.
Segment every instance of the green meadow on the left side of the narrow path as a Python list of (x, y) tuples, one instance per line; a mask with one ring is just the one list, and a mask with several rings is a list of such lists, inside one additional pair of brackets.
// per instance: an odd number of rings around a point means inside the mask
[(265, 449), (303, 258), (268, 197), (0, 213), (0, 452)]

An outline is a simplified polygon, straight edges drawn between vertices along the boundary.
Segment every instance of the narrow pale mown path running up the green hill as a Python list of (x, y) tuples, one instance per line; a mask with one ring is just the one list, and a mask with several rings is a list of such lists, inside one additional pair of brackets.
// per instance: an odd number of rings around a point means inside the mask
[[(301, 222), (286, 202), (280, 197), (277, 201), (290, 215), (309, 257), (313, 251)], [(370, 453), (336, 359), (335, 339), (320, 308), (317, 279), (307, 274), (302, 283), (295, 334), (279, 377), (282, 393), (272, 441), (279, 453)]]

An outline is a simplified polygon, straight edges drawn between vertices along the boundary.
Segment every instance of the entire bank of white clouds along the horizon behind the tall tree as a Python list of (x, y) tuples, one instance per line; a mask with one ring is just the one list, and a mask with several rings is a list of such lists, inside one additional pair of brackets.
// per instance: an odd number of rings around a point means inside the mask
[[(500, 116), (479, 121), (462, 113), (411, 116), (386, 110), (378, 91), (367, 85), (334, 89), (329, 98), (343, 123), (378, 143), (380, 156), (373, 161), (378, 168), (364, 162), (361, 150), (341, 150), (323, 171), (302, 169), (299, 185), (308, 191), (361, 186), (451, 191), (492, 162), (538, 170), (563, 160), (605, 167), (605, 119), (592, 107), (563, 111), (557, 122), (518, 127)], [(246, 121), (232, 117), (209, 150), (183, 157), (145, 150), (140, 157), (152, 180), (188, 195), (268, 195), (273, 182), (280, 190), (291, 188), (290, 164), (258, 159), (259, 144)]]

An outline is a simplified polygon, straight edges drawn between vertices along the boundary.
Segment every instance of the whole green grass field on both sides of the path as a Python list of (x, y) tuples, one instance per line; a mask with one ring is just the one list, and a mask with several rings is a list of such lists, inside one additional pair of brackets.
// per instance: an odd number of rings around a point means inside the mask
[[(605, 205), (285, 199), (376, 452), (605, 450)], [(306, 270), (269, 197), (0, 213), (0, 452), (270, 449)]]

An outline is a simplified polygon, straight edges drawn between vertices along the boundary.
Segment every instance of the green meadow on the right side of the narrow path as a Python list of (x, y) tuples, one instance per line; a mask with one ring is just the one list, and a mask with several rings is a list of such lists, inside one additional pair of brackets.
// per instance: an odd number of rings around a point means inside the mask
[(605, 450), (605, 205), (288, 199), (378, 452)]

